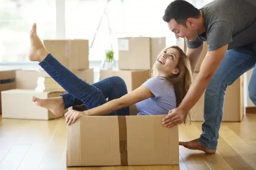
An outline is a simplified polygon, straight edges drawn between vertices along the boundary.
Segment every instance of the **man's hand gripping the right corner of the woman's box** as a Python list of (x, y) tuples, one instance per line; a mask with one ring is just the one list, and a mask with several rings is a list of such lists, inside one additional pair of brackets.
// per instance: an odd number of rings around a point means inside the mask
[(170, 110), (168, 115), (163, 118), (163, 126), (170, 128), (184, 121), (186, 113), (182, 108), (175, 108)]

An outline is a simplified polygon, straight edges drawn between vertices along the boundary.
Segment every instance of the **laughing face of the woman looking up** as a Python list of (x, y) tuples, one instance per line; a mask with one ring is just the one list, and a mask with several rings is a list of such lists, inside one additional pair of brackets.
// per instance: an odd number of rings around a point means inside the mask
[(176, 48), (168, 48), (161, 51), (154, 63), (154, 67), (159, 73), (170, 76), (178, 74), (177, 68), (180, 52)]

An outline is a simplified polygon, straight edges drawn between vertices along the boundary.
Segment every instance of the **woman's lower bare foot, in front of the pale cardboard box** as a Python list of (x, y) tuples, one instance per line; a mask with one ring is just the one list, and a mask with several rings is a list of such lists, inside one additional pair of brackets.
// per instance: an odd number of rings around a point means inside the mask
[(54, 115), (61, 116), (64, 112), (64, 104), (62, 97), (52, 97), (48, 99), (39, 99), (37, 97), (32, 97), (32, 101), (38, 106), (50, 110)]

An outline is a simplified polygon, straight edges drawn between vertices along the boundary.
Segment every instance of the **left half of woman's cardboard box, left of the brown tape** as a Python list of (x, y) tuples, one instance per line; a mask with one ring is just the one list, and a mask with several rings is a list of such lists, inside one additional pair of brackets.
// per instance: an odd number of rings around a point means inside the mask
[(67, 165), (121, 165), (116, 116), (83, 116), (67, 128)]

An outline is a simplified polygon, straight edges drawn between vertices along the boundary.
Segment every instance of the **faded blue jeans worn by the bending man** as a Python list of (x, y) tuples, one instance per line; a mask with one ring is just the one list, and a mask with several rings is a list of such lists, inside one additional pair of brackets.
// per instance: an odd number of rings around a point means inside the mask
[[(216, 149), (222, 122), (224, 97), (230, 86), (243, 73), (255, 67), (256, 52), (239, 47), (226, 52), (220, 66), (210, 80), (204, 95), (204, 123), (198, 141), (206, 148)], [(249, 82), (249, 97), (256, 104), (256, 71)]]

